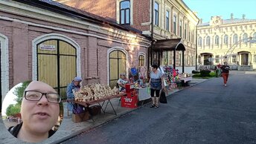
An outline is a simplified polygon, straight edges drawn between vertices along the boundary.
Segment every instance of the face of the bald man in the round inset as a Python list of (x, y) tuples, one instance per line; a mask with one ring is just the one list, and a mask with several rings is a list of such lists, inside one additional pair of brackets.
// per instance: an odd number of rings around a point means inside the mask
[[(25, 91), (57, 94), (50, 85), (37, 81), (31, 82)], [(60, 105), (59, 103), (48, 102), (45, 94), (42, 95), (39, 101), (31, 101), (23, 97), (21, 114), (23, 121), (22, 127), (26, 131), (30, 131), (33, 134), (45, 134), (57, 122), (60, 114)]]

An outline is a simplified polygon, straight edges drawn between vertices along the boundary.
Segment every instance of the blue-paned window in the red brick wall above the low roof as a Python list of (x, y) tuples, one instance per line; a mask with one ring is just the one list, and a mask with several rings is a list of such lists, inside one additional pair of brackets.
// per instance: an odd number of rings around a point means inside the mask
[(120, 23), (129, 24), (130, 4), (129, 1), (120, 2)]

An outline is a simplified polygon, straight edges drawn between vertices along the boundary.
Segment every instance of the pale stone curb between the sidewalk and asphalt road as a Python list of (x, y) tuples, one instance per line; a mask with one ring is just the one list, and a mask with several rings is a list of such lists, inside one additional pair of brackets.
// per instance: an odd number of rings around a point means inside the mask
[[(208, 79), (206, 79), (205, 81), (208, 81)], [(202, 81), (202, 82), (205, 82), (205, 81)], [(194, 85), (198, 85), (199, 83), (202, 83), (202, 82), (196, 82), (196, 84), (194, 84)], [(193, 87), (194, 85), (191, 85), (191, 86), (182, 88), (182, 89), (180, 89), (179, 91), (182, 91), (182, 90), (187, 89), (187, 88), (191, 88), (191, 87)], [(179, 91), (174, 91), (172, 94), (177, 93), (177, 92), (179, 92)], [(167, 96), (171, 96), (171, 94), (169, 94), (169, 95), (167, 95)], [(147, 106), (147, 105), (150, 105), (150, 102), (145, 103), (144, 105), (141, 105), (141, 106), (139, 106), (138, 108), (133, 108), (131, 111), (125, 111), (124, 113), (118, 114), (118, 116), (112, 117), (111, 119), (106, 120), (106, 122), (102, 122), (102, 123), (99, 123), (99, 124), (97, 124), (97, 125), (90, 125), (89, 128), (84, 128), (84, 129), (82, 129), (82, 130), (80, 130), (80, 131), (76, 131), (76, 132), (74, 132), (74, 133), (72, 133), (72, 134), (70, 134), (70, 135), (68, 135), (68, 136), (66, 136), (66, 137), (60, 138), (59, 140), (55, 140), (55, 141), (52, 142), (51, 144), (63, 143), (63, 142), (65, 142), (66, 140), (69, 140), (69, 139), (71, 139), (71, 138), (73, 138), (73, 137), (76, 137), (76, 136), (79, 135), (79, 134), (89, 132), (89, 131), (91, 131), (92, 129), (98, 128), (98, 127), (100, 127), (101, 125), (105, 125), (106, 123), (111, 122), (111, 121), (113, 121), (113, 120), (115, 120), (115, 119), (117, 119), (117, 118), (119, 118), (119, 117), (123, 117), (124, 115), (129, 114), (129, 113), (131, 113), (132, 111), (136, 111), (136, 110), (139, 109), (139, 108), (144, 108), (144, 106)]]

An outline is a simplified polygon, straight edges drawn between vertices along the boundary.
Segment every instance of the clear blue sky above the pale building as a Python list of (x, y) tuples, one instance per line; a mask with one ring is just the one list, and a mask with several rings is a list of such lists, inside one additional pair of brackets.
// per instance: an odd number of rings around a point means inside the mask
[(234, 13), (234, 19), (256, 19), (256, 0), (183, 0), (192, 11), (196, 11), (202, 23), (209, 22), (211, 16), (222, 16), (230, 19)]

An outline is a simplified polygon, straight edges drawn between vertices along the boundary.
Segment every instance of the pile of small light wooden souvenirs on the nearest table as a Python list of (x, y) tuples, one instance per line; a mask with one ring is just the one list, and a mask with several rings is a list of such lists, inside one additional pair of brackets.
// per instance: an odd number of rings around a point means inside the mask
[(74, 100), (79, 102), (89, 102), (92, 100), (101, 99), (104, 96), (112, 96), (119, 94), (118, 88), (110, 88), (109, 85), (86, 85), (74, 92)]

